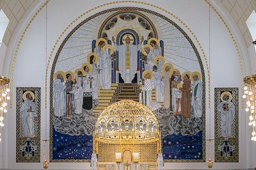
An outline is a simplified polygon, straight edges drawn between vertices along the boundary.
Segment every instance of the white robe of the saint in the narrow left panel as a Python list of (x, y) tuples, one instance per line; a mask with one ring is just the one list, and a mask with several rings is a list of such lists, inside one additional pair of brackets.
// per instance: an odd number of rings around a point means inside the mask
[[(27, 111), (30, 108), (32, 112)], [(38, 117), (38, 114), (36, 114), (34, 102), (31, 100), (25, 100), (22, 103), (22, 107), (20, 108), (20, 119), (22, 120), (23, 126), (23, 137), (35, 137), (35, 117)]]

